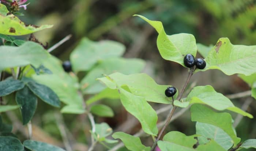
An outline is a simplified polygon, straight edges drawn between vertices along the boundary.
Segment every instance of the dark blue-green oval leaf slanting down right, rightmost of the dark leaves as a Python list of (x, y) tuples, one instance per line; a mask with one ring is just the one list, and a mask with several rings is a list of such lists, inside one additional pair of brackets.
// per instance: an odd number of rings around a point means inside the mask
[(36, 82), (29, 82), (27, 83), (27, 86), (45, 103), (54, 107), (60, 107), (60, 100), (58, 96), (49, 87)]

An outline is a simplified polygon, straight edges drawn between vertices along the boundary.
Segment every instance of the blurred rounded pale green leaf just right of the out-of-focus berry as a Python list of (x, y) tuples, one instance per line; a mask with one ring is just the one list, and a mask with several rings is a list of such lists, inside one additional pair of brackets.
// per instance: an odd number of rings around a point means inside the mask
[(94, 42), (84, 37), (70, 55), (75, 72), (87, 71), (98, 61), (123, 55), (125, 47), (116, 41)]

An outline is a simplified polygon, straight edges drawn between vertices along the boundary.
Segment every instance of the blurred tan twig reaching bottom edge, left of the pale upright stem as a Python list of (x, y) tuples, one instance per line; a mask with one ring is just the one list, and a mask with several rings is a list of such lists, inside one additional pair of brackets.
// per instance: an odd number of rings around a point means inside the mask
[(66, 132), (63, 116), (59, 112), (55, 112), (54, 115), (55, 115), (55, 119), (56, 119), (56, 124), (57, 124), (57, 126), (59, 127), (59, 130), (60, 130), (61, 138), (63, 139), (64, 146), (65, 146), (67, 151), (72, 151), (72, 147), (71, 147), (71, 145), (69, 143), (69, 140), (68, 140), (68, 135), (67, 135), (67, 132)]

